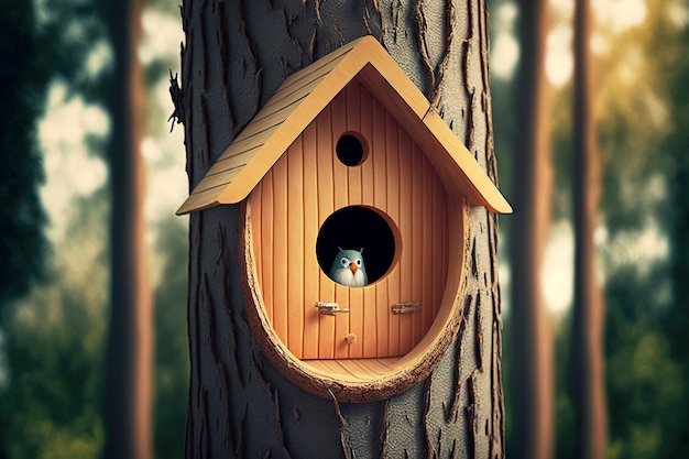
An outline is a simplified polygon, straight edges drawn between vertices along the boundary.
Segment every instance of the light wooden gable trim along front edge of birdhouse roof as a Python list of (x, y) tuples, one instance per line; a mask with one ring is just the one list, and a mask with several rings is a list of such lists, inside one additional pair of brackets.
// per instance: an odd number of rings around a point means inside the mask
[[(212, 186), (215, 183), (210, 181), (211, 186), (208, 189), (199, 190), (208, 175), (205, 176), (176, 214), (184, 215), (219, 204), (237, 204), (243, 200), (294, 140), (354, 78), (360, 80), (389, 111), (395, 113), (398, 122), (424, 141), (422, 146), (448, 193), (464, 196), (470, 204), (485, 206), (493, 212), (511, 214), (512, 207), (495, 184), (440, 116), (430, 108), (426, 97), (382, 45), (374, 37), (364, 36), (347, 47), (351, 48), (338, 57), (332, 69), (294, 107), (284, 121), (272, 130), (251, 160), (238, 170), (239, 172), (233, 173), (229, 183)], [(299, 81), (297, 74), (285, 80), (281, 89)], [(270, 106), (272, 100), (273, 98), (266, 106)], [(255, 130), (252, 123), (253, 121), (245, 130), (250, 127)], [(237, 140), (242, 138), (243, 133), (240, 133)], [(234, 142), (226, 153), (233, 144)]]

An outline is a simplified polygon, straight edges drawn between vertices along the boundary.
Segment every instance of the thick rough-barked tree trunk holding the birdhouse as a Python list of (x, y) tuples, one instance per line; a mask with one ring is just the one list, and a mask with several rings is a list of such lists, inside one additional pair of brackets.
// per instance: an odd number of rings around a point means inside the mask
[[(496, 178), (482, 0), (187, 1), (183, 22), (190, 187), (289, 73), (365, 34)], [(400, 395), (348, 404), (303, 391), (261, 353), (239, 281), (239, 216), (225, 205), (189, 220), (187, 458), (504, 456), (494, 216), (470, 210), (470, 300), (439, 365)]]

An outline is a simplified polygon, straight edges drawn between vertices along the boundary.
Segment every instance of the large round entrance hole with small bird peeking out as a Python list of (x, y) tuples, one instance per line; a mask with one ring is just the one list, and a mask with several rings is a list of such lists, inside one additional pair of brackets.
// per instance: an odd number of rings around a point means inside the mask
[[(347, 286), (365, 286), (380, 280), (395, 260), (395, 232), (392, 225), (379, 211), (364, 206), (350, 206), (335, 211), (322, 223), (316, 239), (316, 258), (320, 269), (332, 281)], [(365, 284), (349, 285), (335, 278), (332, 270), (336, 264), (342, 263), (340, 249), (347, 252), (344, 258), (351, 258), (350, 262), (361, 261), (360, 266), (368, 277)], [(349, 263), (338, 267), (347, 272)]]

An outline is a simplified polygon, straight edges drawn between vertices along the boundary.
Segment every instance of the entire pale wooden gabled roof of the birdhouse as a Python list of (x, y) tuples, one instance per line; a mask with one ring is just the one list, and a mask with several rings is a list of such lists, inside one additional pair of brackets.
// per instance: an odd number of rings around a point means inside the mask
[(417, 140), (451, 195), (508, 214), (512, 207), (426, 97), (372, 36), (356, 40), (283, 81), (177, 210), (243, 200), (289, 145), (352, 79)]

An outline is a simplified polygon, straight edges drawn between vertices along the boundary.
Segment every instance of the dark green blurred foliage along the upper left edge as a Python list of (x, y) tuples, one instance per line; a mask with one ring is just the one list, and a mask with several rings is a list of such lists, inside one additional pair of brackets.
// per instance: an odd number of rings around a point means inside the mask
[(42, 273), (45, 216), (36, 119), (48, 72), (39, 59), (33, 4), (0, 1), (0, 306), (26, 293)]

